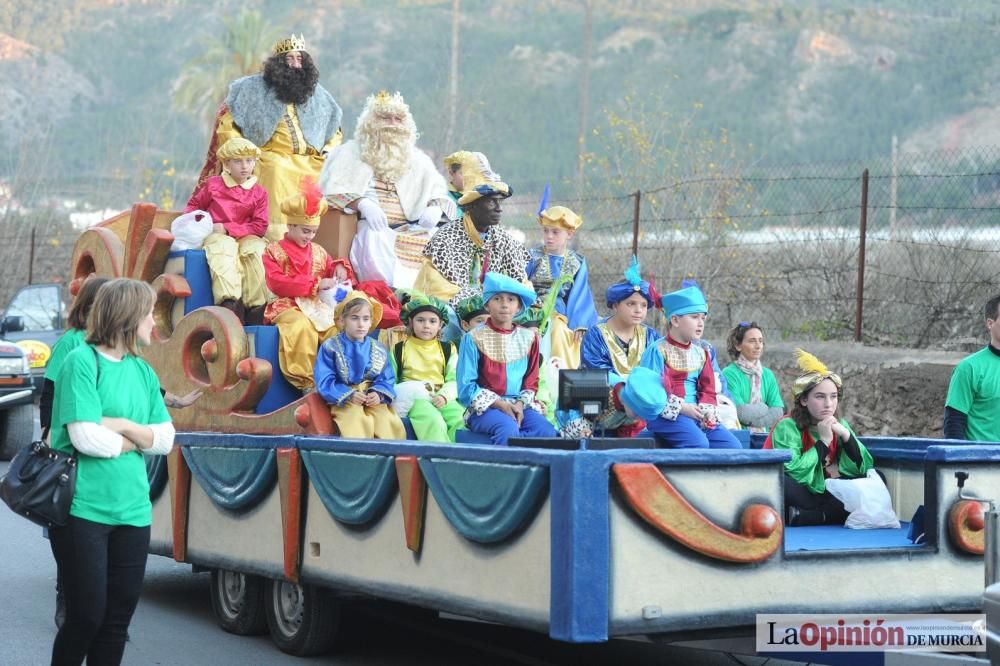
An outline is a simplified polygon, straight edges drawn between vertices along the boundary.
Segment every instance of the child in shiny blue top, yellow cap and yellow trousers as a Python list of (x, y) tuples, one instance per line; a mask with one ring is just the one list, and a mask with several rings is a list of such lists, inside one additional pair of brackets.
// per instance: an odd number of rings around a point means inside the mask
[(337, 305), (336, 318), (341, 333), (320, 346), (314, 374), (340, 436), (406, 439), (403, 422), (389, 406), (396, 397), (389, 354), (368, 337), (382, 319), (382, 306), (352, 291)]

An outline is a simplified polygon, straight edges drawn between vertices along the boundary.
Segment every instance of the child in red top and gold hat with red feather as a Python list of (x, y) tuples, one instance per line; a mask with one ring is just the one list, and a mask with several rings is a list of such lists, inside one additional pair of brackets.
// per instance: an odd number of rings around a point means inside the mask
[[(347, 261), (333, 259), (312, 242), (327, 203), (314, 181), (281, 202), (288, 231), (264, 252), (267, 288), (277, 299), (264, 311), (264, 321), (278, 327), (278, 363), (295, 388), (313, 389), (313, 364), (320, 342), (336, 334), (334, 310), (324, 296), (347, 275)], [(324, 292), (324, 293), (321, 293)]]

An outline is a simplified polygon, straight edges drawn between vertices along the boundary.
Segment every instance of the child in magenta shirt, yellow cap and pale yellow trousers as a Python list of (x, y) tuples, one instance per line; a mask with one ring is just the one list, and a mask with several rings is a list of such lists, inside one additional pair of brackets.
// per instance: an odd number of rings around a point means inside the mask
[(261, 256), (267, 247), (262, 236), (268, 220), (267, 191), (253, 175), (260, 149), (236, 137), (215, 155), (222, 163), (222, 175), (205, 181), (184, 212), (203, 210), (212, 216), (212, 233), (203, 247), (215, 304), (232, 310), (240, 320), (249, 311), (250, 323), (259, 324), (267, 301)]

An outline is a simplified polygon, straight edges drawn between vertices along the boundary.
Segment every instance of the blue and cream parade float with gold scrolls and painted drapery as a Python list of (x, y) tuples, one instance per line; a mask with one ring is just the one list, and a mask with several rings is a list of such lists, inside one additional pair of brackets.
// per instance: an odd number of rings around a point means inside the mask
[[(212, 571), (227, 631), (315, 654), (358, 594), (581, 643), (982, 606), (984, 507), (965, 497), (1000, 488), (1000, 445), (863, 437), (896, 512), (917, 519), (849, 530), (786, 527), (788, 454), (753, 446), (342, 439), (316, 393), (284, 382), (275, 329), (211, 305), (201, 251), (170, 252), (176, 215), (139, 204), (85, 231), (71, 290), (94, 273), (151, 283), (145, 358), (165, 389), (204, 391), (171, 411), (173, 452), (150, 458), (151, 550)], [(350, 224), (318, 242), (344, 256)]]

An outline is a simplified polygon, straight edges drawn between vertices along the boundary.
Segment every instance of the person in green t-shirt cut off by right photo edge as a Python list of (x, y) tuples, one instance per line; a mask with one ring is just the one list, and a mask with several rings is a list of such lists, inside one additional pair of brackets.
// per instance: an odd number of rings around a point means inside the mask
[(955, 366), (944, 403), (944, 436), (1000, 442), (1000, 295), (986, 302), (990, 342)]

